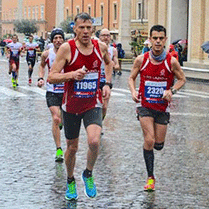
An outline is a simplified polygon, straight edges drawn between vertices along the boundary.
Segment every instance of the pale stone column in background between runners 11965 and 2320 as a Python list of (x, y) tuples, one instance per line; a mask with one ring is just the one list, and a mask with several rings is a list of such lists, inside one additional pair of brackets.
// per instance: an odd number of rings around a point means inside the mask
[(120, 23), (118, 41), (125, 50), (126, 57), (131, 57), (131, 0), (120, 1)]

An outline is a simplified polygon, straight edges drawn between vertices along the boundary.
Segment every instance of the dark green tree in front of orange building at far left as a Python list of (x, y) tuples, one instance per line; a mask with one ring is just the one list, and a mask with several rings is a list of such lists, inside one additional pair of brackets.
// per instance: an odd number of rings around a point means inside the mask
[(35, 20), (16, 20), (14, 26), (18, 33), (25, 35), (36, 33), (39, 30)]

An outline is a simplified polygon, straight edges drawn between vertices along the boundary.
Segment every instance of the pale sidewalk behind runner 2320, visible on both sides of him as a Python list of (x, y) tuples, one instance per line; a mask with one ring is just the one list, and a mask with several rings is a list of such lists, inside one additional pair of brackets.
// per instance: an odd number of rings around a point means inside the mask
[[(122, 63), (122, 71), (130, 71), (132, 63)], [(186, 78), (195, 81), (209, 81), (209, 69), (182, 67)]]

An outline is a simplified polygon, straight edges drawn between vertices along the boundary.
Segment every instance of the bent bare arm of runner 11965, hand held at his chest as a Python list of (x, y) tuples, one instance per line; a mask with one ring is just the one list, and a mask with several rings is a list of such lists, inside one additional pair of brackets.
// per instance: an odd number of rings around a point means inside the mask
[(60, 46), (56, 59), (53, 62), (51, 71), (48, 76), (48, 80), (50, 83), (62, 83), (72, 79), (82, 80), (86, 74), (86, 72), (82, 69), (78, 69), (76, 71), (61, 73), (66, 63), (69, 63), (71, 59), (71, 49), (68, 43), (64, 43)]

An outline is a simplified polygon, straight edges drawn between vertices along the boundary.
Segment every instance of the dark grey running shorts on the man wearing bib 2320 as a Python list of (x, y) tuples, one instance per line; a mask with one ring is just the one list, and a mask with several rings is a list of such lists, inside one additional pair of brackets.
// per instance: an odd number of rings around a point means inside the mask
[(167, 125), (170, 120), (170, 113), (169, 112), (161, 112), (153, 109), (149, 109), (146, 107), (137, 107), (137, 119), (139, 117), (152, 117), (154, 118), (155, 123), (159, 123), (162, 125)]

